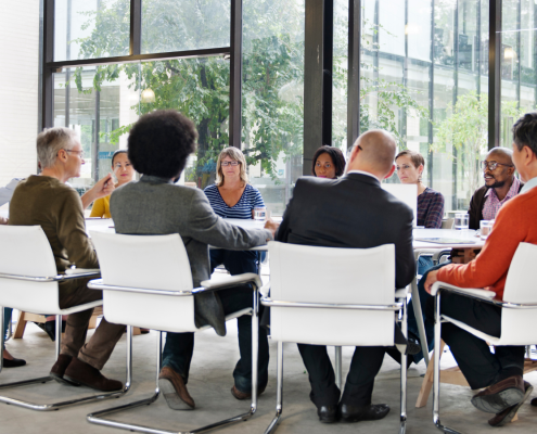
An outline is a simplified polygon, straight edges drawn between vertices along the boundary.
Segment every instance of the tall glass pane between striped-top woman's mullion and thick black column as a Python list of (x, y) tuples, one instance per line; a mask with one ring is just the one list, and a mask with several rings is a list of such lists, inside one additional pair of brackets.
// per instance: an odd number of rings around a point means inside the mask
[(281, 215), (302, 176), (304, 0), (243, 2), (243, 152), (250, 180)]

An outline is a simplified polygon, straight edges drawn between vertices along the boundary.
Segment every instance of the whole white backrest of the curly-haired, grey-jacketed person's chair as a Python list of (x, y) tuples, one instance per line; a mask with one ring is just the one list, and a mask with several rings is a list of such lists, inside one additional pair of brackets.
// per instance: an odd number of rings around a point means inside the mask
[[(123, 235), (91, 231), (103, 283), (157, 291), (192, 291), (192, 272), (177, 233)], [(107, 321), (171, 332), (195, 331), (194, 297), (104, 291)]]

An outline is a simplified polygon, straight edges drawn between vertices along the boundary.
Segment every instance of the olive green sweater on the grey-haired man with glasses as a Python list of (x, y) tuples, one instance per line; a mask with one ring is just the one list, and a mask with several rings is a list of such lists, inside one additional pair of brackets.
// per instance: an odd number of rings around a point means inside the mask
[(56, 178), (31, 175), (18, 182), (10, 202), (9, 225), (39, 225), (49, 239), (59, 272), (72, 265), (99, 268), (86, 234), (80, 196)]

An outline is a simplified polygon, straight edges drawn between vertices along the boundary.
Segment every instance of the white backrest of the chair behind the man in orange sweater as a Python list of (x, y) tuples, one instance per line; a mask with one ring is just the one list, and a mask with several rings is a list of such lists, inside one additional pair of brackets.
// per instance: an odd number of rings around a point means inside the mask
[[(536, 264), (537, 245), (520, 243), (509, 267), (503, 301), (537, 303), (537, 280), (533, 269)], [(502, 309), (500, 342), (509, 345), (537, 343), (536, 316), (537, 309)]]

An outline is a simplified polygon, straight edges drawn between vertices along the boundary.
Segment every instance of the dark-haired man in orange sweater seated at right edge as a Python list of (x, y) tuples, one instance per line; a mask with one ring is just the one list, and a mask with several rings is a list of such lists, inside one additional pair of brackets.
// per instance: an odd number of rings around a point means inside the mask
[[(503, 288), (511, 259), (521, 242), (537, 244), (537, 113), (527, 113), (513, 126), (513, 162), (525, 183), (520, 194), (502, 206), (494, 230), (475, 260), (465, 265), (447, 265), (431, 271), (425, 291), (442, 281), (461, 288), (486, 288), (498, 298)], [(434, 302), (427, 302), (427, 316), (434, 318)], [(456, 294), (442, 298), (440, 311), (483, 331), (500, 336), (501, 308)], [(527, 398), (533, 387), (522, 379), (524, 347), (496, 347), (452, 323), (442, 328), (442, 337), (449, 345), (459, 368), (472, 388), (487, 387), (472, 398), (480, 410), (497, 413), (494, 426), (509, 422)]]

